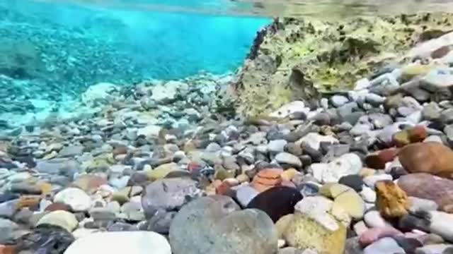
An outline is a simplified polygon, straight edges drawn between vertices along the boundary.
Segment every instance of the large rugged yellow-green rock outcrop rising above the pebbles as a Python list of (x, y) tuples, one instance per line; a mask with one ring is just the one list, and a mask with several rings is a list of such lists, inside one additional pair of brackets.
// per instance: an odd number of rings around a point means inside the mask
[(239, 72), (239, 111), (265, 116), (299, 99), (317, 107), (322, 92), (352, 87), (416, 43), (448, 32), (452, 14), (420, 13), (326, 22), (276, 18), (258, 32)]

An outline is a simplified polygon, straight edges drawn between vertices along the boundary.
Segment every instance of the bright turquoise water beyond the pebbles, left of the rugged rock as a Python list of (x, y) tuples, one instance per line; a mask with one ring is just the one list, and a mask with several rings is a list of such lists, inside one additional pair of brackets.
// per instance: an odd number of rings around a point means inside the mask
[(234, 71), (270, 22), (93, 2), (1, 1), (0, 114), (35, 110), (29, 99), (64, 102), (100, 82)]

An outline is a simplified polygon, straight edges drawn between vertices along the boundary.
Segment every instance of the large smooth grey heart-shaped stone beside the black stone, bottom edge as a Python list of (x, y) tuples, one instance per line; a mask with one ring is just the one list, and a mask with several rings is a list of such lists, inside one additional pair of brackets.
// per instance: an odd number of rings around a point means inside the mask
[(277, 229), (265, 212), (240, 210), (229, 197), (214, 195), (185, 205), (171, 222), (173, 254), (275, 254)]

